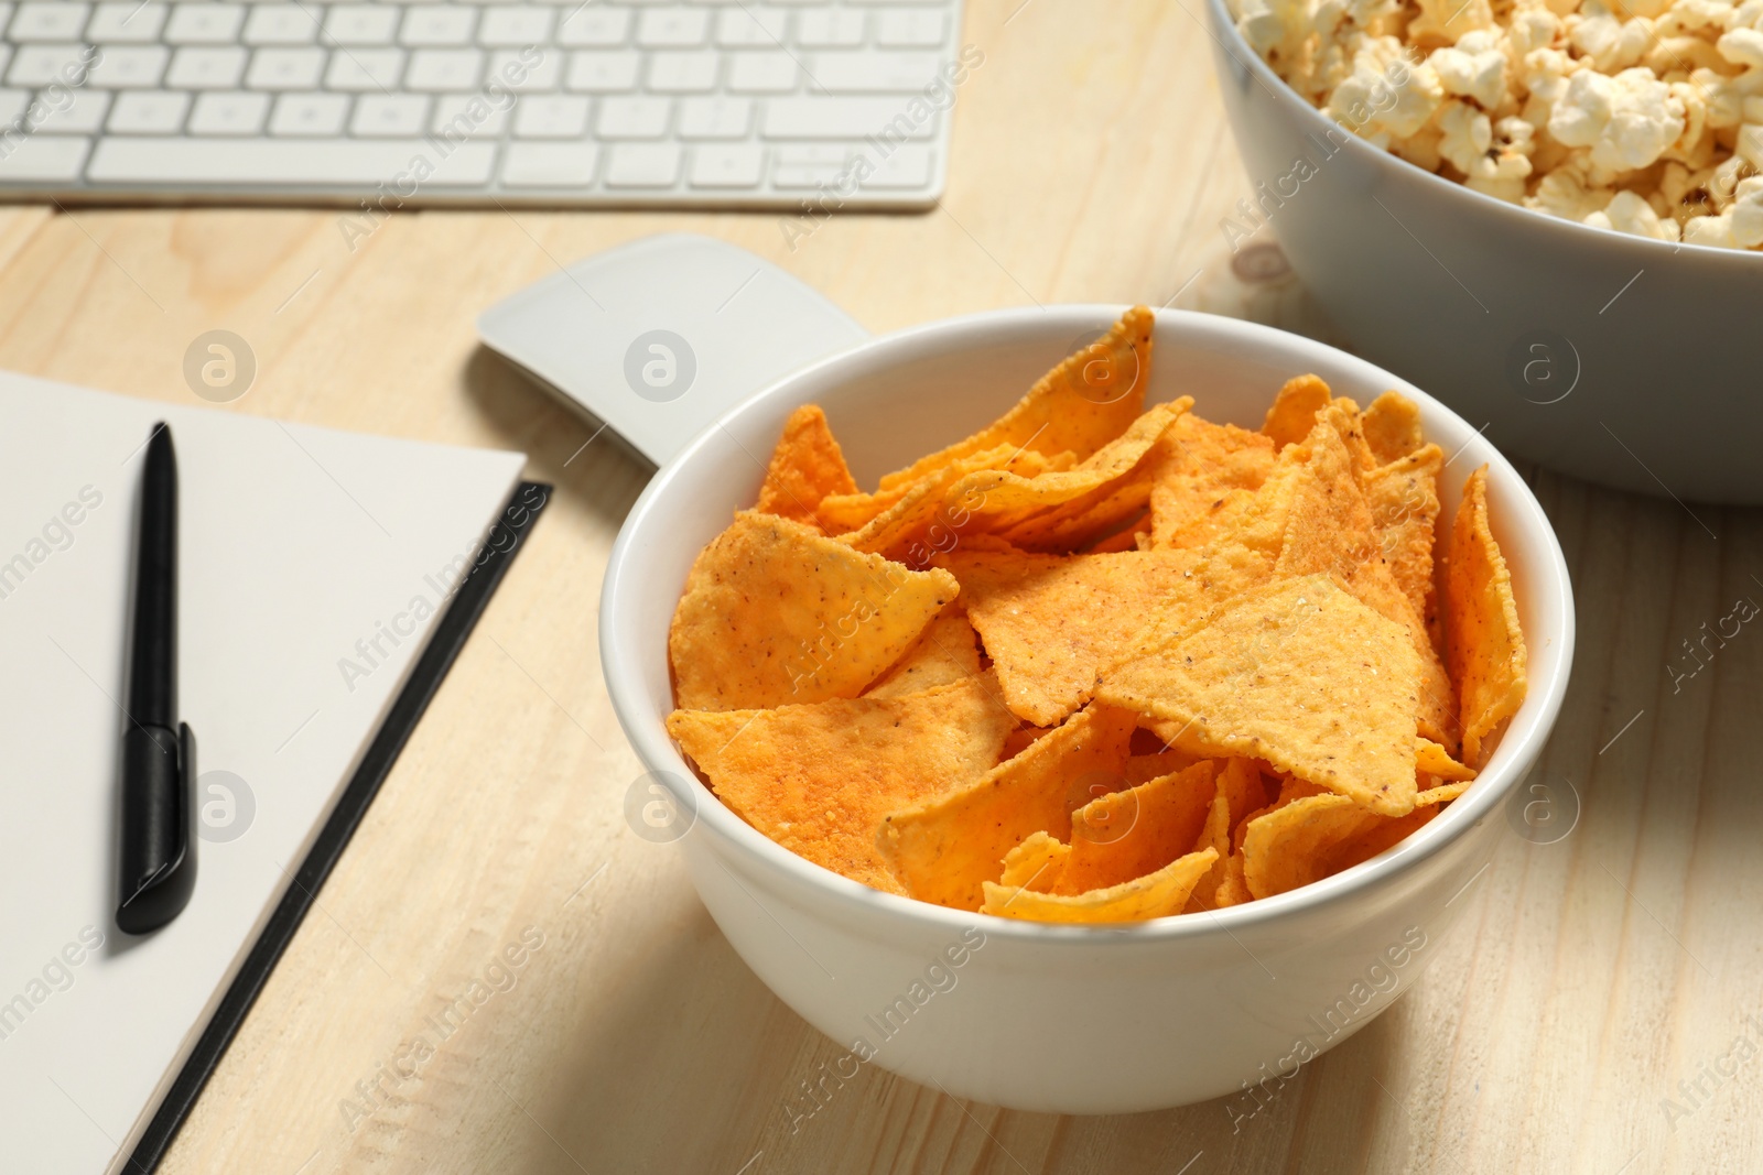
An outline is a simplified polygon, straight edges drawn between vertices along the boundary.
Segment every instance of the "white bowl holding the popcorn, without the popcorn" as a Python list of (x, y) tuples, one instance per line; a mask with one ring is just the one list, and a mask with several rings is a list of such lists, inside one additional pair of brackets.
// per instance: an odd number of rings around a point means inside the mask
[(1641, 493), (1763, 502), (1763, 254), (1592, 229), (1425, 173), (1342, 130), (1224, 0), (1206, 7), (1241, 197), (1280, 197), (1296, 160), (1315, 166), (1253, 240), (1278, 238), (1358, 354), (1507, 453)]

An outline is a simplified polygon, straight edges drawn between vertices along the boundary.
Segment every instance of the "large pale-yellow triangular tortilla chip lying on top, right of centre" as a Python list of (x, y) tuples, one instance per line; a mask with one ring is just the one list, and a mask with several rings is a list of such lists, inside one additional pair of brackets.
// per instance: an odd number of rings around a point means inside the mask
[(1104, 669), (1095, 698), (1183, 724), (1176, 745), (1266, 759), (1387, 816), (1414, 807), (1419, 659), (1402, 625), (1328, 576), (1280, 580), (1165, 648)]

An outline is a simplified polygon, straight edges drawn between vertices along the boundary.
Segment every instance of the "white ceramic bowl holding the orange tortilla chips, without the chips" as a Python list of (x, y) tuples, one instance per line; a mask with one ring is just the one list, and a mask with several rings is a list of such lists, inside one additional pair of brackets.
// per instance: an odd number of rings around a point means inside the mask
[[(1463, 477), (1491, 465), (1491, 520), (1530, 645), (1530, 696), (1469, 793), (1407, 842), (1319, 884), (1118, 928), (1047, 927), (880, 893), (811, 865), (725, 809), (663, 729), (673, 706), (668, 622), (698, 550), (755, 500), (760, 462), (790, 410), (820, 403), (857, 481), (873, 484), (1003, 412), (1074, 340), (1100, 333), (1120, 312), (980, 314), (825, 359), (700, 433), (649, 483), (614, 546), (599, 611), (614, 708), (654, 779), (696, 814), (679, 846), (735, 951), (804, 1020), (853, 1050), (829, 1066), (829, 1092), (839, 1075), (871, 1062), (1010, 1108), (1127, 1113), (1291, 1071), (1298, 1041), (1320, 1052), (1345, 1039), (1439, 951), (1469, 905), (1453, 898), (1476, 883), (1495, 840), (1513, 835), (1502, 809), (1560, 710), (1573, 662), (1567, 567), (1543, 509), (1493, 446), (1432, 396), (1340, 351), (1232, 319), (1162, 312), (1149, 402), (1190, 393), (1209, 419), (1259, 426), (1282, 381), (1317, 372), (1361, 403), (1396, 388), (1421, 405), (1426, 435), (1456, 453), (1447, 511)], [(813, 1105), (804, 1096), (788, 1113)]]

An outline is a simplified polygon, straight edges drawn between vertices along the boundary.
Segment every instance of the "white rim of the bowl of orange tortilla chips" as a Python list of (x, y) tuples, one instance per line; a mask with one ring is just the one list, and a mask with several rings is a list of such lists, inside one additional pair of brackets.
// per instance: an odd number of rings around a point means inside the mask
[[(1141, 923), (1058, 925), (980, 914), (977, 911), (959, 911), (919, 898), (873, 890), (862, 883), (816, 865), (807, 858), (797, 856), (790, 849), (765, 837), (762, 831), (735, 816), (732, 809), (725, 807), (721, 800), (718, 800), (716, 794), (698, 779), (696, 772), (686, 763), (681, 749), (666, 735), (663, 721), (665, 715), (654, 713), (647, 705), (645, 691), (638, 669), (635, 668), (638, 652), (633, 650), (629, 657), (624, 654), (624, 647), (631, 645), (635, 638), (626, 636), (628, 625), (621, 631), (619, 618), (626, 611), (624, 601), (635, 601), (643, 592), (642, 583), (636, 583), (635, 576), (628, 573), (633, 551), (638, 548), (636, 536), (643, 534), (647, 541), (651, 530), (665, 532), (651, 521), (651, 514), (654, 513), (658, 502), (666, 495), (668, 488), (682, 477), (682, 470), (689, 469), (698, 454), (707, 451), (714, 435), (725, 428), (725, 423), (749, 410), (762, 400), (793, 398), (795, 403), (809, 403), (813, 395), (825, 391), (822, 384), (829, 379), (850, 381), (859, 375), (885, 372), (890, 366), (897, 366), (904, 358), (910, 358), (926, 344), (936, 344), (945, 338), (959, 338), (963, 335), (982, 335), (987, 328), (1007, 329), (1019, 322), (1047, 321), (1049, 314), (1063, 314), (1072, 321), (1072, 324), (1077, 324), (1077, 319), (1082, 319), (1084, 326), (1093, 326), (1100, 317), (1105, 317), (1107, 321), (1118, 319), (1125, 308), (1125, 305), (1102, 303), (1061, 303), (1042, 308), (1014, 307), (938, 319), (889, 335), (878, 335), (859, 342), (846, 351), (818, 359), (776, 381), (748, 400), (742, 400), (739, 405), (732, 407), (721, 418), (700, 430), (698, 435), (693, 437), (693, 440), (688, 442), (672, 462), (656, 472), (656, 476), (649, 481), (649, 486), (631, 506), (629, 514), (626, 514), (612, 553), (606, 558), (606, 573), (599, 599), (598, 636), (606, 694), (612, 701), (619, 724), (624, 728), (626, 738), (631, 742), (638, 761), (645, 768), (643, 777), (656, 777), (656, 780), (673, 791), (675, 800), (693, 814), (693, 823), (688, 826), (686, 833), (682, 833), (682, 839), (700, 835), (700, 831), (714, 833), (723, 844), (730, 846), (733, 853), (746, 856), (760, 868), (785, 874), (795, 886), (806, 888), (807, 891), (818, 893), (825, 898), (859, 907), (869, 916), (915, 925), (924, 930), (959, 934), (968, 927), (980, 925), (989, 937), (998, 935), (1014, 941), (1063, 942), (1070, 946), (1095, 946), (1100, 942), (1149, 942), (1215, 934), (1229, 934), (1231, 937), (1236, 937), (1236, 932), (1261, 930), (1271, 923), (1312, 914), (1320, 907), (1338, 907), (1354, 897), (1365, 895), (1366, 891), (1410, 872), (1423, 861), (1442, 853), (1472, 826), (1481, 823), (1490, 812), (1493, 812), (1495, 805), (1507, 800), (1520, 779), (1529, 775), (1530, 768), (1541, 757), (1555, 721), (1560, 715), (1567, 680), (1573, 671), (1574, 606), (1571, 578), (1566, 557), (1560, 550), (1560, 541), (1555, 536), (1548, 516), (1543, 513), (1543, 506), (1536, 500), (1536, 495), (1530, 491), (1525, 479), (1518, 474), (1511, 462), (1497, 447), (1493, 447), (1491, 442), (1481, 437), (1479, 432), (1476, 432), (1446, 403), (1366, 359), (1338, 351), (1336, 347), (1329, 347), (1328, 344), (1305, 338), (1303, 335), (1292, 335), (1259, 322), (1245, 322), (1188, 310), (1158, 308), (1155, 314), (1160, 322), (1174, 322), (1178, 329), (1194, 333), (1201, 349), (1227, 351), (1224, 344), (1236, 344), (1238, 349), (1252, 351), (1257, 340), (1280, 340), (1280, 345), (1283, 347), (1296, 345), (1299, 351), (1313, 351), (1319, 356), (1328, 356), (1335, 366), (1358, 368), (1356, 373), (1363, 375), (1368, 384), (1382, 384), (1414, 398), (1421, 405), (1423, 416), (1440, 414), (1447, 419), (1454, 419), (1465, 433), (1472, 433), (1463, 447), (1476, 449), (1477, 456), (1490, 465), (1490, 472), (1499, 470), (1497, 481), (1502, 484), (1502, 493), (1516, 488), (1516, 493), (1511, 493), (1516, 500), (1507, 500), (1502, 506), (1502, 513), (1516, 520), (1513, 523), (1514, 530), (1529, 530), (1543, 539), (1541, 546), (1546, 555), (1544, 565), (1530, 569), (1529, 576), (1532, 580), (1532, 590), (1539, 592), (1539, 615), (1543, 615), (1544, 610), (1553, 611), (1553, 622), (1557, 627), (1555, 639), (1558, 641), (1560, 652), (1555, 659), (1555, 671), (1543, 678), (1536, 673), (1534, 664), (1537, 648), (1536, 638), (1532, 636), (1527, 639), (1532, 661), (1529, 682), (1530, 689), (1520, 706), (1520, 712), (1513, 715), (1507, 729), (1502, 733), (1495, 752), (1499, 757), (1499, 750), (1506, 750), (1509, 747), (1511, 754), (1500, 757), (1497, 770), (1483, 770), (1483, 773), (1476, 779), (1477, 784), (1486, 786), (1470, 787), (1460, 800), (1447, 805), (1439, 817), (1428, 821), (1416, 833), (1410, 833), (1407, 839), (1400, 840), (1379, 856), (1287, 893), (1225, 909), (1204, 911), (1209, 914), (1208, 918), (1172, 914)], [(1061, 322), (1058, 329), (1063, 331), (1065, 324)], [(1213, 345), (1208, 347), (1204, 344)], [(792, 403), (792, 407), (795, 407), (795, 403)], [(1527, 731), (1527, 742), (1509, 743), (1513, 729), (1520, 726), (1521, 719)], [(1537, 743), (1534, 756), (1529, 754), (1530, 747), (1527, 743), (1530, 742)], [(1491, 766), (1493, 765), (1490, 765), (1490, 768)], [(679, 784), (686, 786), (686, 794), (679, 794)], [(1479, 872), (1476, 876), (1479, 877)], [(1465, 888), (1472, 881), (1474, 877), (1465, 883)], [(777, 890), (772, 891), (774, 895), (783, 897)], [(788, 900), (792, 904), (799, 902), (795, 897), (788, 897)]]

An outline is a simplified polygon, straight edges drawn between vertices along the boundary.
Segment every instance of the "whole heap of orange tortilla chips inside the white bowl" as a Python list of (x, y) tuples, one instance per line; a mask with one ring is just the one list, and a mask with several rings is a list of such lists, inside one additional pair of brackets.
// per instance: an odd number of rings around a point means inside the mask
[(1486, 470), (1444, 530), (1398, 393), (1144, 409), (1151, 328), (873, 491), (790, 416), (668, 636), (668, 731), (733, 812), (876, 890), (1121, 923), (1352, 868), (1472, 786), (1525, 696)]

